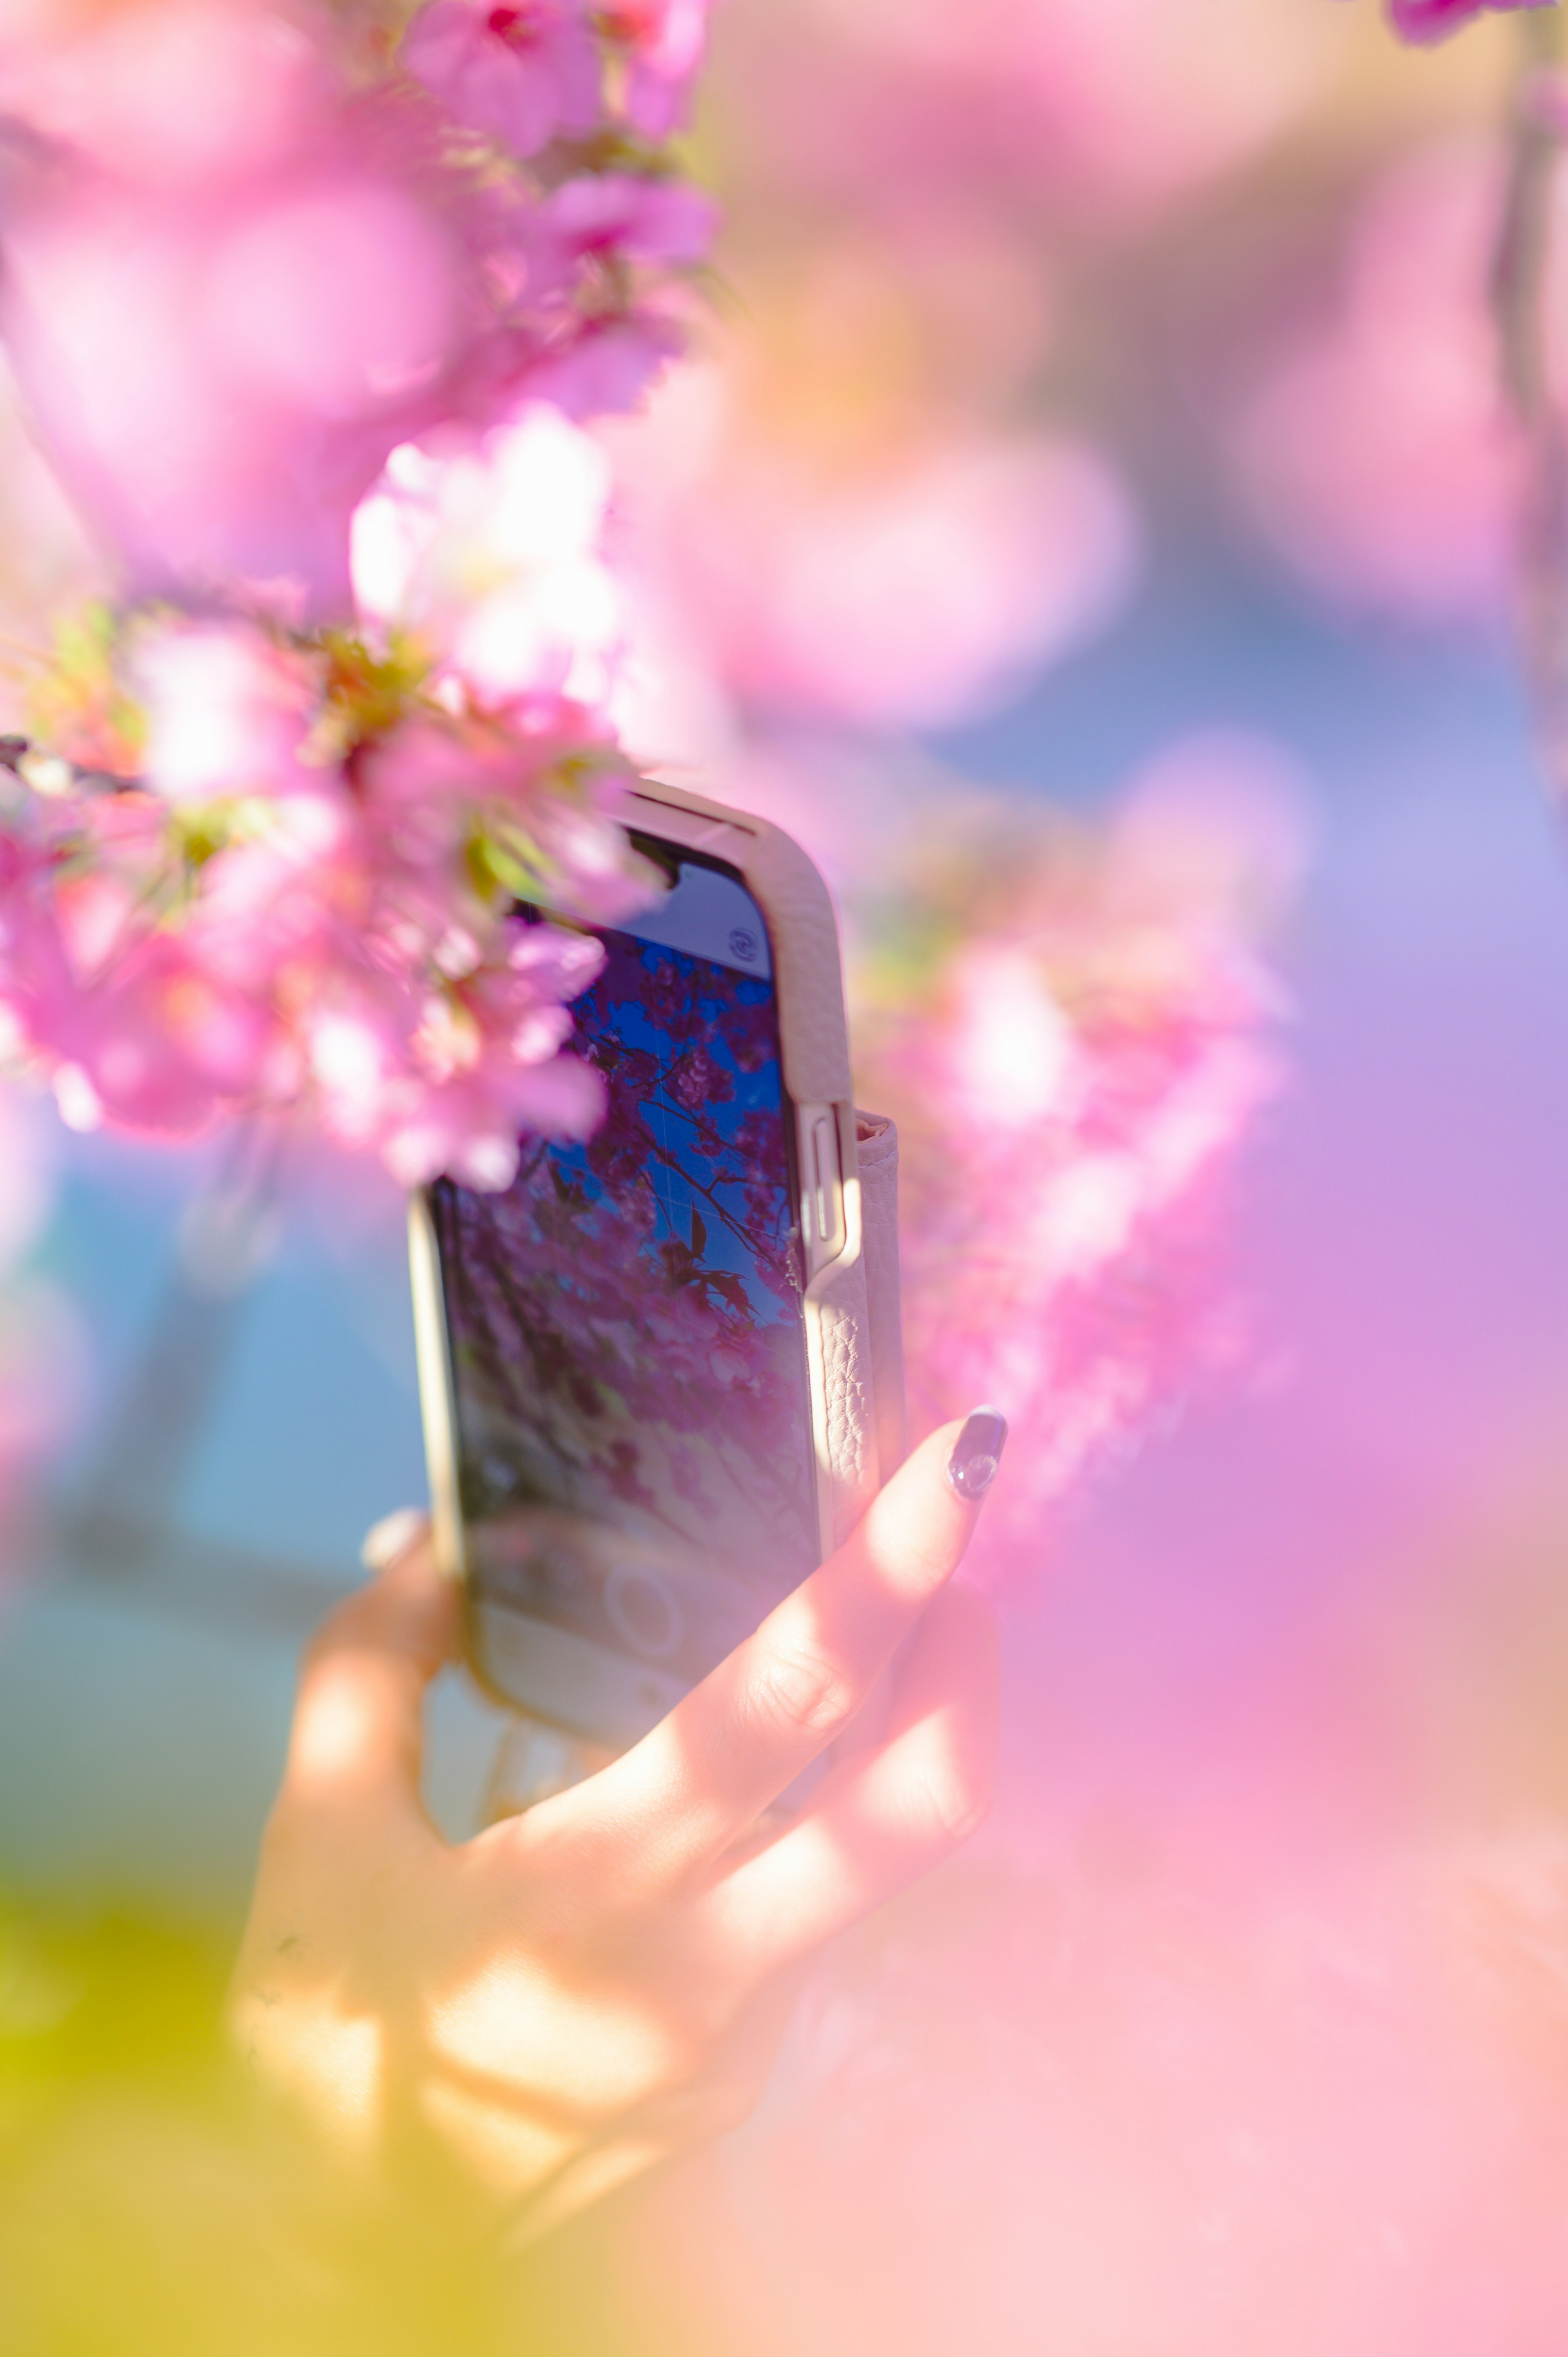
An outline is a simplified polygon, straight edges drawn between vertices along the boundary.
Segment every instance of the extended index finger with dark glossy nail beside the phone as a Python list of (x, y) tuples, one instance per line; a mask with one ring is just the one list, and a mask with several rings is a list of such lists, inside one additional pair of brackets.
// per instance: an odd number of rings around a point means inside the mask
[[(995, 1471), (1004, 1424), (981, 1417)], [(976, 1421), (931, 1433), (837, 1556), (597, 1780), (648, 1871), (717, 1857), (854, 1721), (964, 1556), (988, 1485)]]

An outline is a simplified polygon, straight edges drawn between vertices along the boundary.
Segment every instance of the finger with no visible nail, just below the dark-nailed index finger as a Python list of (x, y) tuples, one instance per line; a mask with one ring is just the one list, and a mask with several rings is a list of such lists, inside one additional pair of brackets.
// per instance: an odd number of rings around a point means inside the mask
[(990, 1805), (995, 1730), (995, 1619), (948, 1589), (910, 1643), (887, 1744), (835, 1768), (806, 1815), (705, 1897), (724, 1954), (764, 1980), (941, 1864)]

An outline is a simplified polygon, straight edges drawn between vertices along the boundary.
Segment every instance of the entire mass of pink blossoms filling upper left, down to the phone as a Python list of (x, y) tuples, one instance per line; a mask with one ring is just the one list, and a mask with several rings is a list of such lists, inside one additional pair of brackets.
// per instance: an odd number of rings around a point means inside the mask
[[(705, 0), (0, 26), (0, 335), (125, 596), (0, 750), (0, 1061), (505, 1188), (585, 1136), (620, 594), (585, 420), (681, 349)], [(123, 257), (134, 257), (134, 269)], [(94, 358), (116, 351), (116, 372)]]

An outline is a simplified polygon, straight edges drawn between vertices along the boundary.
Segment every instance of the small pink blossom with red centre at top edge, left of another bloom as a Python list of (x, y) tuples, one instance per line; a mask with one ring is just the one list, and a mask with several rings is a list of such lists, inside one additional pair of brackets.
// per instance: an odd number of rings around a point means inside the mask
[(599, 120), (599, 47), (580, 0), (429, 0), (403, 35), (403, 66), (514, 156)]

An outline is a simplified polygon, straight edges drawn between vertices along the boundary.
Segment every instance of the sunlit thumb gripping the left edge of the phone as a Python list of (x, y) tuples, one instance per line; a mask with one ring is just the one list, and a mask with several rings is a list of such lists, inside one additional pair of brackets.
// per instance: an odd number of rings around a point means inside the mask
[(457, 1591), (436, 1572), (424, 1516), (380, 1553), (380, 1577), (323, 1622), (304, 1657), (283, 1798), (420, 1805), (424, 1688), (455, 1650)]

